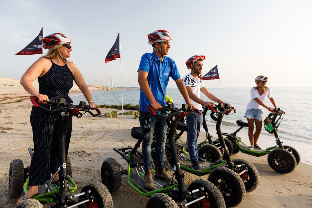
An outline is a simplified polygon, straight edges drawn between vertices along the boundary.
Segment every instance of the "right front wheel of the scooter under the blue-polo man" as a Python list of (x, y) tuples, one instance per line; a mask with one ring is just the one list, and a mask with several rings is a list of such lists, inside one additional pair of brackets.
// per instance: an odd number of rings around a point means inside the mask
[[(225, 208), (225, 201), (223, 199), (223, 196), (219, 189), (217, 189), (216, 186), (212, 184), (212, 182), (203, 180), (203, 179), (196, 179), (188, 186), (188, 191), (193, 191), (195, 189), (198, 189), (200, 187), (204, 188), (203, 193), (208, 193), (208, 198), (204, 198), (200, 201), (197, 201), (191, 205), (189, 205), (189, 208), (201, 208), (201, 207), (212, 207), (212, 208)], [(187, 201), (193, 201), (199, 197), (203, 196), (203, 194), (198, 195), (197, 193), (194, 193), (189, 198), (187, 198)], [(207, 205), (207, 206), (204, 206)]]

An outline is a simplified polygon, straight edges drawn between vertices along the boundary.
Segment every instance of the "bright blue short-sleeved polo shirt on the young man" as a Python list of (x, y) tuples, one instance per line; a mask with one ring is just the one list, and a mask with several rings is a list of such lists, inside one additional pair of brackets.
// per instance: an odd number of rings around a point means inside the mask
[[(138, 71), (139, 70), (148, 73), (146, 79), (156, 102), (159, 104), (166, 104), (165, 96), (169, 76), (171, 76), (173, 80), (181, 78), (174, 60), (164, 56), (163, 61), (159, 62), (158, 56), (153, 51), (153, 53), (146, 53), (141, 57)], [(150, 104), (149, 99), (145, 96), (142, 89), (140, 89), (140, 110), (149, 111), (147, 106)]]

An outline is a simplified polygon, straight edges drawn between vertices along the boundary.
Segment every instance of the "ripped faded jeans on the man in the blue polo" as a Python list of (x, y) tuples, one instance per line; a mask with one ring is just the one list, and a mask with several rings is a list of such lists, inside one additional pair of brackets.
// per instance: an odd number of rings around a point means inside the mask
[[(161, 115), (167, 116), (168, 114), (161, 113)], [(152, 169), (151, 144), (153, 142), (154, 131), (156, 135), (157, 167), (164, 167), (165, 142), (167, 140), (166, 119), (151, 115), (150, 112), (140, 111), (139, 121), (143, 130), (142, 154), (144, 169)]]

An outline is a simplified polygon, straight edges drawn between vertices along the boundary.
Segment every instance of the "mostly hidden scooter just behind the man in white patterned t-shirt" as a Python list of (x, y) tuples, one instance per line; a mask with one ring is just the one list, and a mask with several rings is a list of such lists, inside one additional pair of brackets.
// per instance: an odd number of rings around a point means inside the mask
[[(197, 149), (199, 151), (201, 146), (203, 146), (205, 144), (211, 144), (211, 145), (216, 146), (220, 150), (220, 152), (222, 153), (222, 147), (221, 147), (221, 143), (220, 143), (219, 139), (217, 139), (215, 141), (212, 141), (212, 136), (210, 135), (210, 133), (208, 131), (207, 123), (206, 123), (206, 120), (205, 120), (205, 117), (206, 117), (206, 114), (207, 114), (208, 110), (209, 109), (207, 107), (202, 106), (202, 117), (203, 117), (203, 119), (202, 119), (202, 127), (205, 129), (206, 139), (203, 142), (197, 144)], [(188, 127), (184, 123), (185, 120), (186, 120), (186, 117), (184, 117), (183, 120), (181, 119), (181, 120), (178, 121), (178, 123), (177, 123), (177, 130), (179, 130), (180, 133), (178, 133), (176, 135), (174, 140), (177, 143), (179, 143), (180, 146), (183, 146), (185, 148), (185, 150), (188, 152), (188, 144), (187, 144), (187, 142), (184, 141), (183, 139), (181, 139), (181, 135), (184, 132), (188, 132)], [(167, 125), (170, 126), (170, 122), (167, 121)], [(225, 142), (226, 147), (227, 147), (227, 149), (229, 151), (229, 154), (232, 155), (232, 153), (233, 153), (233, 144), (232, 144), (232, 142), (230, 142), (230, 140), (228, 140), (227, 138), (224, 138), (224, 142)]]

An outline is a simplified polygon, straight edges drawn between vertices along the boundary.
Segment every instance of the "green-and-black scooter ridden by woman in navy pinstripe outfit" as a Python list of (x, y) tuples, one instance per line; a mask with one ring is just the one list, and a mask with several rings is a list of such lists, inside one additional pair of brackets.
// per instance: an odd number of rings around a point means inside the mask
[[(41, 108), (49, 112), (59, 112), (62, 124), (59, 132), (59, 153), (60, 164), (51, 180), (46, 181), (44, 185), (38, 187), (38, 194), (31, 198), (21, 201), (16, 207), (18, 208), (40, 208), (43, 207), (41, 203), (47, 203), (49, 207), (56, 208), (71, 208), (71, 207), (113, 207), (113, 200), (107, 188), (100, 182), (90, 182), (86, 184), (80, 193), (72, 195), (77, 190), (77, 185), (70, 175), (67, 174), (67, 166), (70, 165), (66, 162), (66, 146), (65, 134), (66, 129), (73, 115), (77, 118), (82, 117), (81, 112), (88, 112), (92, 116), (101, 114), (100, 110), (96, 108), (89, 108), (86, 102), (81, 102), (79, 105), (72, 105), (66, 103), (65, 98), (51, 98), (48, 103), (48, 108), (37, 103), (37, 97), (30, 97), (32, 104), (36, 108)], [(97, 114), (93, 114), (91, 110), (96, 110)], [(32, 157), (33, 151), (36, 149), (29, 148), (29, 153)], [(9, 172), (9, 197), (14, 199), (18, 198), (22, 192), (24, 194), (28, 191), (29, 170), (31, 167), (24, 168), (23, 161), (20, 159), (13, 160), (10, 164)], [(67, 168), (68, 169), (68, 168)], [(59, 184), (52, 183), (55, 176), (59, 173)], [(71, 171), (70, 171), (71, 174)]]

